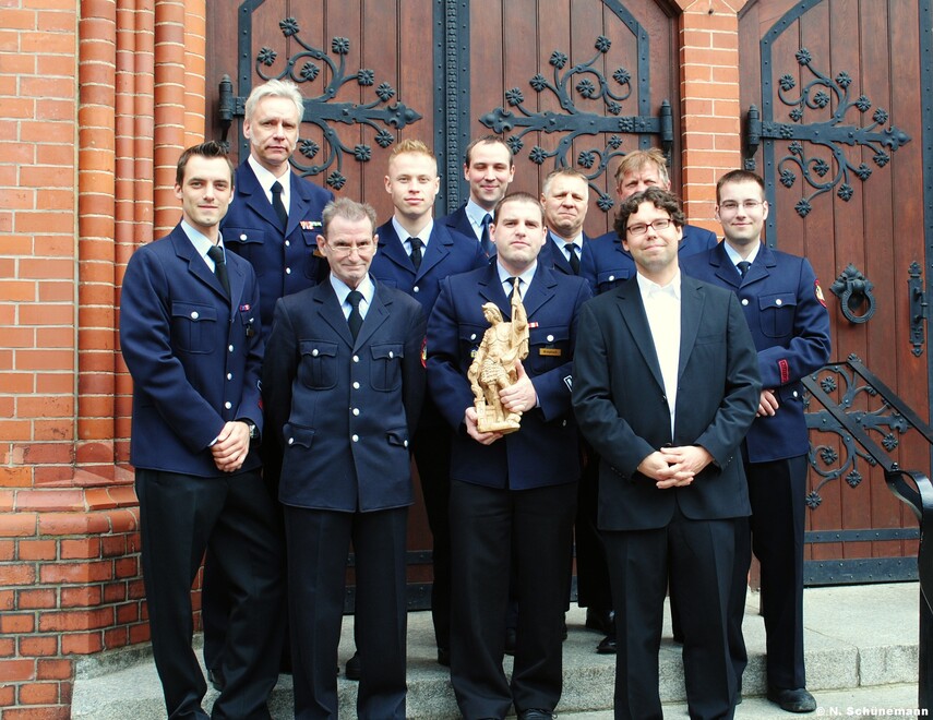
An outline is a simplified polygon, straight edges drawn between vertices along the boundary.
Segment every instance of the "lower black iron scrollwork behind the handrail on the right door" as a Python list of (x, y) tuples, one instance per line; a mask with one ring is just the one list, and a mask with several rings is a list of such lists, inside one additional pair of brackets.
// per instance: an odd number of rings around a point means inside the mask
[[(860, 371), (864, 372), (860, 372)], [(869, 375), (865, 379), (865, 374)], [(828, 432), (836, 435), (841, 446), (841, 455), (829, 444), (811, 444), (810, 466), (820, 477), (813, 490), (806, 496), (806, 506), (815, 511), (823, 503), (820, 491), (829, 482), (845, 480), (851, 488), (857, 488), (864, 479), (860, 463), (875, 467), (878, 460), (869, 448), (853, 436), (835, 417), (845, 413), (849, 422), (865, 433), (878, 437), (881, 447), (886, 453), (894, 452), (900, 444), (900, 436), (911, 429), (911, 423), (898, 411), (884, 393), (876, 387), (877, 381), (864, 369), (854, 355), (849, 356), (848, 363), (835, 363), (823, 368), (820, 373), (804, 380), (804, 385), (811, 391), (804, 397), (808, 407), (806, 427), (811, 430)], [(822, 407), (814, 409), (813, 396), (820, 398)], [(835, 398), (835, 399), (834, 399)], [(869, 398), (862, 401), (860, 398)], [(856, 410), (856, 407), (873, 409)], [(829, 408), (833, 408), (834, 413)]]

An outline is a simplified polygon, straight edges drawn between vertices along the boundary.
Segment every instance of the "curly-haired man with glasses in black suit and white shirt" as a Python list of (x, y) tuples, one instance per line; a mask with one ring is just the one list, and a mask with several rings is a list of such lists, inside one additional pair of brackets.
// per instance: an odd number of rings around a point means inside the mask
[(615, 717), (661, 718), (663, 599), (683, 608), (691, 718), (731, 718), (728, 601), (737, 518), (750, 513), (740, 444), (758, 406), (755, 346), (734, 295), (682, 276), (683, 213), (658, 189), (623, 203), (635, 278), (584, 307), (574, 410), (601, 458), (599, 529), (619, 653)]

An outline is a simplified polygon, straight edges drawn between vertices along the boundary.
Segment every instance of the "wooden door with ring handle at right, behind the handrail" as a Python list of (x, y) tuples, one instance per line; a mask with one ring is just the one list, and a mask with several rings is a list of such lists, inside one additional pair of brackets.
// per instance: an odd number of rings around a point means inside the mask
[[(929, 291), (933, 261), (930, 7), (751, 0), (740, 14), (745, 164), (767, 182), (767, 242), (813, 263), (834, 359), (854, 353), (923, 418), (931, 357), (908, 283), (925, 272)], [(820, 380), (901, 467), (929, 473), (926, 443), (901, 436), (897, 413), (864, 383)], [(806, 581), (916, 577), (905, 559), (917, 551), (912, 515), (829, 415), (810, 411)]]

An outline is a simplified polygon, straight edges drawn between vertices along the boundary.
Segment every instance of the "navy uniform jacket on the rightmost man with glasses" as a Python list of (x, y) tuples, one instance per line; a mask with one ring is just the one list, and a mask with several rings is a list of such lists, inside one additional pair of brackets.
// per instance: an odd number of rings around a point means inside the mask
[(683, 261), (683, 272), (732, 290), (758, 350), (762, 384), (777, 391), (777, 413), (749, 431), (751, 463), (804, 455), (810, 449), (800, 379), (829, 361), (829, 313), (805, 257), (762, 245), (742, 278), (725, 248)]

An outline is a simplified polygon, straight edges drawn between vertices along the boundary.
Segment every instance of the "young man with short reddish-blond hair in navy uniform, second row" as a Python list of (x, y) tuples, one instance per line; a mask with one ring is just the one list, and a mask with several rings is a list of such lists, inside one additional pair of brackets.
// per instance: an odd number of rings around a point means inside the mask
[[(392, 196), (395, 212), (376, 230), (379, 253), (370, 271), (380, 283), (398, 288), (421, 303), (426, 317), (431, 314), (444, 278), (489, 262), (473, 232), (463, 235), (443, 223), (434, 221), (434, 199), (440, 187), (438, 160), (424, 143), (404, 140), (395, 146), (385, 176), (385, 190)], [(443, 421), (430, 392), (412, 445), (434, 542), (431, 616), (438, 643), (438, 662), (448, 665), (451, 530), (447, 505), (451, 489), (451, 429)], [(347, 663), (348, 677), (355, 670), (355, 661), (356, 656)]]

